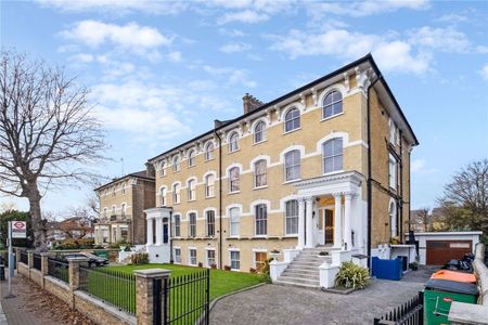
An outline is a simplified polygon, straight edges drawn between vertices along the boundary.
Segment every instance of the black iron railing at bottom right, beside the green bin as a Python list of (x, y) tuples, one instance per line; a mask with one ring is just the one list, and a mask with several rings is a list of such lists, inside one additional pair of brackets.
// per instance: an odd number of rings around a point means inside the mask
[(374, 325), (423, 325), (424, 324), (424, 292), (406, 303), (395, 308), (381, 318), (374, 318)]

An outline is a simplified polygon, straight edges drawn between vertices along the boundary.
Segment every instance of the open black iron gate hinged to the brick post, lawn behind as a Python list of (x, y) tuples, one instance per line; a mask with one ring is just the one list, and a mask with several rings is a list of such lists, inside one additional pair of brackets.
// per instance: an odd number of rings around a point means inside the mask
[(153, 286), (154, 324), (209, 324), (209, 270), (155, 280)]

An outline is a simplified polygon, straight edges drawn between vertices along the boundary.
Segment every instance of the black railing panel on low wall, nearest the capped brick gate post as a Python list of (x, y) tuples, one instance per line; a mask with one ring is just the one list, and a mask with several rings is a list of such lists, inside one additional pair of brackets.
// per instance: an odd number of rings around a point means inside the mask
[(79, 289), (119, 310), (136, 313), (136, 276), (103, 268), (79, 268)]

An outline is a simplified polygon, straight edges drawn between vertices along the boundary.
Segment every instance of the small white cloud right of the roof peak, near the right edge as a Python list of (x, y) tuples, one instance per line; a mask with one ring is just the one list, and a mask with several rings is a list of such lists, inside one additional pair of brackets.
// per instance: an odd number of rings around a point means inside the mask
[(409, 31), (410, 43), (444, 52), (466, 52), (470, 48), (467, 36), (452, 27), (433, 28), (424, 26)]

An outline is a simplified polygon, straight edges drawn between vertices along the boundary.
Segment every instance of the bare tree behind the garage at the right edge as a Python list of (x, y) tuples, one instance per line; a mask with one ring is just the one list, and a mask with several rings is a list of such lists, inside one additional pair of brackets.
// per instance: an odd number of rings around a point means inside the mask
[(439, 204), (451, 230), (488, 233), (488, 159), (468, 164), (445, 186)]

